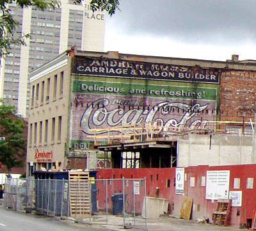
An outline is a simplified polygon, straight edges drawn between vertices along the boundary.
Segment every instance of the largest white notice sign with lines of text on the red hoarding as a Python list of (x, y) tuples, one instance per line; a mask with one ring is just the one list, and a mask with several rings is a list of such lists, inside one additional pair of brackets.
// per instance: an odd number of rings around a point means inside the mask
[(205, 199), (228, 199), (229, 170), (207, 171)]

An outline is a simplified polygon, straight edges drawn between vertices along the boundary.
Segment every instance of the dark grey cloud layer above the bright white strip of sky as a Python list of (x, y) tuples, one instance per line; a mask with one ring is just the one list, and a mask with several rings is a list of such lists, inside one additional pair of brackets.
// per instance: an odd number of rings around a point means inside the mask
[(256, 38), (255, 0), (121, 0), (111, 24), (128, 35), (188, 43), (236, 44)]

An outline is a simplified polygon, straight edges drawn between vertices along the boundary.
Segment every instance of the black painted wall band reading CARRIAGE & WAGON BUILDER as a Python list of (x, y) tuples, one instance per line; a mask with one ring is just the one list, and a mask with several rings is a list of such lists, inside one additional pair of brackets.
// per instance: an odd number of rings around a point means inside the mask
[(72, 72), (86, 76), (136, 77), (179, 82), (220, 83), (220, 72), (215, 68), (141, 61), (77, 58)]

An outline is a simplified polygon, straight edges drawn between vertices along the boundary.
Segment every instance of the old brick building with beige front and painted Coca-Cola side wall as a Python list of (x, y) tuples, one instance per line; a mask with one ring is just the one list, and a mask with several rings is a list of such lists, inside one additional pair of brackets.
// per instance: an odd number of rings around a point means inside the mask
[[(89, 155), (95, 166), (103, 153), (113, 168), (189, 166), (178, 154), (188, 143), (178, 148), (184, 140), (177, 134), (252, 134), (255, 70), (255, 62), (238, 56), (207, 61), (64, 52), (30, 72), (27, 169), (86, 168)], [(252, 143), (243, 148), (252, 152)], [(189, 155), (194, 159), (193, 150)]]

